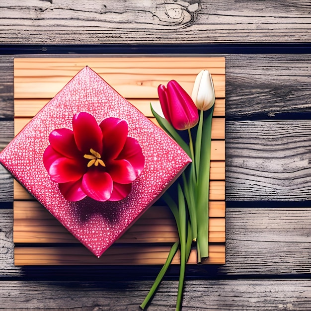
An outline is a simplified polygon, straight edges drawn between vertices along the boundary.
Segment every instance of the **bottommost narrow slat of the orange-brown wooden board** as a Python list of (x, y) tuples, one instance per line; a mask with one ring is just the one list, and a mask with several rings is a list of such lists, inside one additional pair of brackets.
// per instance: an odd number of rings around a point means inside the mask
[[(105, 255), (95, 257), (83, 246), (66, 247), (18, 247), (14, 249), (15, 265), (146, 265), (164, 264), (170, 246), (118, 246), (113, 245), (107, 249)], [(207, 264), (225, 263), (225, 245), (210, 244)], [(126, 256), (124, 256), (126, 254)], [(172, 263), (178, 264), (179, 252), (176, 253)], [(197, 263), (196, 250), (192, 250), (190, 264)]]

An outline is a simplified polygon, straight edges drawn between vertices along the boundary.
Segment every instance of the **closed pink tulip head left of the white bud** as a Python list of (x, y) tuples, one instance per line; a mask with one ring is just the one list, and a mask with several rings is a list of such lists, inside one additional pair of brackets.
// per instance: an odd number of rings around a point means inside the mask
[(190, 129), (198, 123), (198, 108), (178, 82), (169, 81), (167, 88), (160, 84), (157, 92), (165, 119), (176, 130)]

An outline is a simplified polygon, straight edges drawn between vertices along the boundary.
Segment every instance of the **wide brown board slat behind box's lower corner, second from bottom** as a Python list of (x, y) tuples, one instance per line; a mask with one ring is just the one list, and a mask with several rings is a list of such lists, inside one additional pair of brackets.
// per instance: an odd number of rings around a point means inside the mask
[[(209, 241), (225, 242), (225, 218), (218, 212), (217, 205), (211, 206)], [(215, 216), (214, 216), (215, 217)], [(79, 243), (37, 201), (14, 202), (14, 243)], [(153, 206), (124, 233), (117, 243), (175, 242), (178, 239), (176, 224), (167, 207)]]

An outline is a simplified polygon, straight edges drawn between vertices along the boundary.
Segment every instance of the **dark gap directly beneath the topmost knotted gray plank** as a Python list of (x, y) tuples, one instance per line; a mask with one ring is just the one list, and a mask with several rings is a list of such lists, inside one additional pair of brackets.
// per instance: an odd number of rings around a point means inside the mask
[(310, 43), (227, 44), (1, 44), (17, 54), (311, 54)]

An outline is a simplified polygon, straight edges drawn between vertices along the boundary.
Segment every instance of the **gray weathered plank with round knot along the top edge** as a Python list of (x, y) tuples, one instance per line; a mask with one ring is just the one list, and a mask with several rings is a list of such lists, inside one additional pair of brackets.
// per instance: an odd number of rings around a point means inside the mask
[[(309, 0), (69, 0), (1, 4), (0, 41), (37, 44), (310, 42)], [(68, 35), (70, 33), (70, 35)]]

